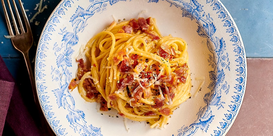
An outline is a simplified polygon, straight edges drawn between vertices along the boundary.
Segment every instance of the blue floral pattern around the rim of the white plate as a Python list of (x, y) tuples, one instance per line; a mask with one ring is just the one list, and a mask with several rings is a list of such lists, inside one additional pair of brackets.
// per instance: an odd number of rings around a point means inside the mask
[[(54, 108), (63, 109), (67, 112), (67, 115), (65, 115), (67, 123), (75, 133), (79, 135), (102, 135), (101, 128), (93, 126), (90, 122), (86, 121), (85, 113), (75, 106), (76, 101), (67, 89), (70, 80), (73, 78), (72, 73), (74, 72), (69, 71), (69, 67), (72, 67), (72, 60), (74, 59), (72, 54), (75, 50), (72, 47), (78, 44), (78, 34), (84, 32), (87, 20), (94, 14), (101, 13), (107, 10), (109, 6), (121, 1), (126, 0), (89, 0), (87, 8), (77, 5), (76, 11), (73, 11), (74, 14), (69, 18), (68, 25), (72, 27), (72, 31), (69, 31), (66, 27), (62, 27), (61, 29), (58, 27), (60, 19), (66, 15), (69, 8), (79, 2), (78, 0), (63, 0), (51, 14), (44, 27), (37, 48), (35, 62), (36, 86), (45, 117), (57, 135), (71, 134), (60, 123), (57, 114), (53, 110)], [(126, 2), (131, 1), (134, 0), (127, 0)], [(224, 135), (230, 129), (239, 112), (245, 92), (247, 75), (245, 51), (234, 21), (218, 0), (206, 0), (205, 3), (203, 1), (203, 5), (199, 0), (146, 0), (145, 2), (153, 4), (165, 2), (170, 7), (175, 6), (179, 8), (182, 11), (181, 17), (195, 20), (198, 25), (196, 32), (200, 37), (207, 39), (207, 48), (211, 52), (207, 59), (209, 67), (212, 69), (209, 71), (210, 84), (207, 86), (211, 91), (204, 95), (205, 106), (200, 107), (199, 112), (196, 113), (197, 118), (194, 122), (190, 125), (181, 124), (180, 128), (176, 132), (171, 132), (172, 134), (170, 135), (195, 135), (200, 130), (208, 133), (208, 129), (216, 116), (216, 113), (212, 110), (215, 107), (218, 110), (225, 109), (225, 118), (216, 122), (216, 127), (208, 135)], [(218, 18), (212, 18), (212, 13), (205, 12), (203, 9), (204, 4), (209, 5), (212, 11), (214, 11), (213, 14), (216, 14)], [(233, 52), (227, 52), (225, 39), (215, 34), (217, 32), (216, 24), (214, 24), (215, 19), (221, 19), (223, 22), (224, 25), (222, 27), (226, 30), (225, 33), (229, 37), (228, 40), (233, 43), (231, 45)], [(50, 45), (48, 43), (54, 39), (54, 34), (61, 35), (62, 39), (54, 42), (54, 45)], [(45, 69), (47, 66), (45, 58), (48, 55), (54, 55), (56, 58), (54, 60), (56, 65), (52, 64), (50, 66), (51, 69)], [(234, 55), (236, 59), (231, 60), (230, 58), (232, 57), (230, 55)], [(236, 84), (234, 86), (225, 79), (226, 73), (230, 72), (232, 64), (235, 64), (233, 67), (236, 67), (236, 75), (234, 75), (236, 76)], [(51, 81), (57, 82), (58, 86), (52, 90), (48, 90), (49, 86), (46, 84), (48, 82), (46, 76), (50, 76)], [(231, 86), (233, 87), (231, 88)], [(48, 93), (54, 94), (54, 99), (50, 99)], [(233, 93), (232, 97), (228, 99), (228, 103), (231, 104), (225, 105), (227, 101), (223, 101), (222, 96), (229, 93)], [(55, 100), (58, 107), (52, 106), (50, 100)]]

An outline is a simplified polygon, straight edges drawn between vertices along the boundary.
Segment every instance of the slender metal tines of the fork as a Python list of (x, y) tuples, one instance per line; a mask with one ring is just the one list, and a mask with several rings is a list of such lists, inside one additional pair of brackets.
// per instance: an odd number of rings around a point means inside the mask
[[(11, 1), (12, 1), (12, 4), (11, 4), (10, 0), (6, 0), (6, 2), (4, 0), (1, 0), (10, 36), (19, 35), (22, 33), (27, 33), (28, 31), (30, 31), (30, 28), (28, 25), (29, 22), (28, 22), (28, 18), (26, 16), (22, 1), (18, 0), (18, 3), (16, 3), (15, 0), (11, 0)], [(19, 5), (19, 7), (21, 9), (20, 12), (17, 9), (17, 4)], [(6, 5), (8, 8), (6, 8)], [(8, 13), (7, 9), (10, 11), (9, 13)], [(14, 16), (14, 12), (16, 13), (16, 17)], [(9, 18), (9, 15), (10, 15), (11, 19)], [(23, 22), (22, 22), (20, 16), (22, 18), (24, 18)]]

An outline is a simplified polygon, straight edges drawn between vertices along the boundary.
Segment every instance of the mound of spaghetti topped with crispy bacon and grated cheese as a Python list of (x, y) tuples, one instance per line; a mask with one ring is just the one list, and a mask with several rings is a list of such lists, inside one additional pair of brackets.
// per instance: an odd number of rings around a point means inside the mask
[(163, 127), (191, 96), (187, 44), (162, 36), (154, 18), (113, 21), (88, 41), (85, 55), (88, 63), (77, 59), (69, 89), (78, 86), (86, 101), (101, 103), (100, 110), (114, 108), (124, 118)]

